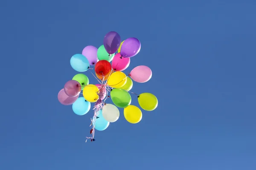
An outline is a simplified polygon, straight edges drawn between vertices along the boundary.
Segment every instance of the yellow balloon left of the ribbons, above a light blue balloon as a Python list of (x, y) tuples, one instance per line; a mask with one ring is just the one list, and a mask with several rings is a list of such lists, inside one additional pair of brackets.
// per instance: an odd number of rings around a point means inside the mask
[(99, 88), (96, 85), (87, 85), (84, 87), (83, 96), (88, 102), (96, 102), (99, 99), (97, 92)]

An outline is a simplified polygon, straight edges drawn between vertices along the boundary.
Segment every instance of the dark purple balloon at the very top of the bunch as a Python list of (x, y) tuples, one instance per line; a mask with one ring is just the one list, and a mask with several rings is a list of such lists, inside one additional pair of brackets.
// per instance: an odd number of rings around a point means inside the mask
[(103, 45), (108, 54), (114, 54), (121, 44), (121, 37), (115, 31), (110, 31), (105, 35)]

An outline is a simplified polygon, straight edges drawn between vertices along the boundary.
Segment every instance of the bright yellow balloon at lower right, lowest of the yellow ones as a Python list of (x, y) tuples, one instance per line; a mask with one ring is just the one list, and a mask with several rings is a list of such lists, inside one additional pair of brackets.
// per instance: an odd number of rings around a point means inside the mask
[(125, 119), (130, 123), (138, 123), (142, 119), (142, 112), (140, 108), (134, 105), (128, 105), (124, 108)]

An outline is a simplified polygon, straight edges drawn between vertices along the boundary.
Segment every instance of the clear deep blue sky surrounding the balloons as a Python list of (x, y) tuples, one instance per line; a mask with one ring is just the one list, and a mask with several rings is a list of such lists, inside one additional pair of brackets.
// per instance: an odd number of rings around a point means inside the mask
[[(1, 0), (0, 169), (255, 170), (255, 18), (255, 0)], [(150, 67), (131, 91), (159, 105), (85, 143), (93, 112), (57, 94), (109, 31), (141, 41), (124, 72)]]

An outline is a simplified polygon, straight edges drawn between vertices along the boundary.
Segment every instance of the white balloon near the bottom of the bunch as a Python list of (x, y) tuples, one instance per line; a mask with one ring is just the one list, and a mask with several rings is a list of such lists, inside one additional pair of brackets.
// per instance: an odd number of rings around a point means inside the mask
[(108, 122), (116, 122), (119, 118), (119, 110), (115, 105), (106, 104), (102, 108), (102, 115)]

